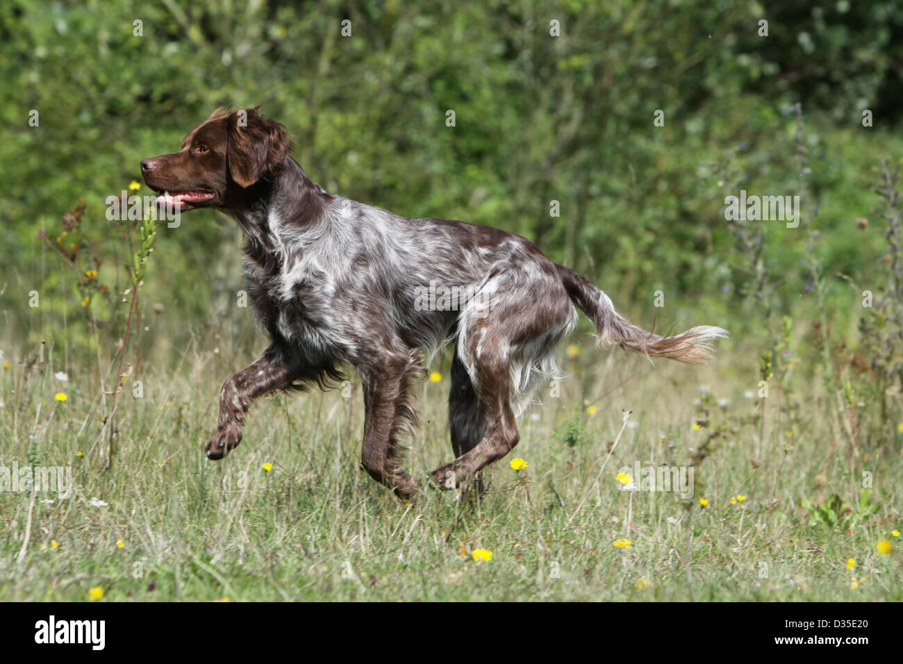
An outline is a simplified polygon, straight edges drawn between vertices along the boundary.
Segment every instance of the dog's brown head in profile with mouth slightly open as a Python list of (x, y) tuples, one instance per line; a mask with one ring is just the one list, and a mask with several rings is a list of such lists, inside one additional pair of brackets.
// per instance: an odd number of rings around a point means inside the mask
[(278, 122), (256, 108), (214, 111), (191, 129), (182, 150), (141, 162), (147, 186), (162, 194), (158, 202), (195, 208), (232, 209), (247, 188), (273, 175), (290, 148)]

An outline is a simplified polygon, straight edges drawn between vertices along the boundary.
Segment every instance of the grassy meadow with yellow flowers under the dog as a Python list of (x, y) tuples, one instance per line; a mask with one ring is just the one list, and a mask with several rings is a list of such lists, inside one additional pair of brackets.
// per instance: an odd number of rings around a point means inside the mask
[[(891, 535), (903, 526), (898, 451), (848, 449), (815, 415), (780, 423), (776, 394), (763, 424), (762, 400), (749, 397), (759, 355), (731, 342), (716, 363), (695, 368), (598, 351), (579, 333), (573, 341), (581, 345), (565, 360), (571, 378), (527, 411), (521, 443), (491, 470), (487, 495), (428, 486), (411, 503), (359, 469), (357, 383), (350, 398), (261, 399), (242, 444), (209, 463), (201, 449), (219, 384), (252, 358), (208, 352), (145, 369), (144, 396), (119, 396), (107, 470), (104, 411), (88, 379), (72, 372), (64, 383), (51, 364), (26, 371), (13, 360), (0, 369), (0, 462), (71, 466), (74, 489), (64, 500), (0, 491), (0, 598), (87, 601), (98, 587), (100, 601), (903, 598), (903, 547)], [(423, 426), (408, 455), (420, 477), (452, 458), (447, 358), (431, 369), (443, 378), (418, 387)], [(804, 413), (824, 398), (817, 381), (799, 388)], [(623, 409), (632, 413), (606, 461)], [(513, 457), (526, 470), (512, 470)], [(690, 500), (619, 491), (622, 466), (691, 459)], [(863, 471), (874, 478), (870, 510), (860, 506)], [(833, 494), (838, 522), (814, 525)], [(738, 495), (745, 500), (731, 504)], [(895, 546), (881, 556), (884, 538)], [(619, 539), (631, 544), (615, 547)], [(490, 561), (474, 560), (480, 548)]]

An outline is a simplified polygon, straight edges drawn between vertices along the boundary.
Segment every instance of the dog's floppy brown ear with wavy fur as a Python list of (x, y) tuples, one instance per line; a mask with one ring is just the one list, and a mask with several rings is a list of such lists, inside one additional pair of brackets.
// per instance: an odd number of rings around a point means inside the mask
[(240, 108), (229, 115), (227, 126), (228, 171), (242, 187), (274, 173), (284, 162), (289, 139), (278, 122), (261, 117), (255, 108)]

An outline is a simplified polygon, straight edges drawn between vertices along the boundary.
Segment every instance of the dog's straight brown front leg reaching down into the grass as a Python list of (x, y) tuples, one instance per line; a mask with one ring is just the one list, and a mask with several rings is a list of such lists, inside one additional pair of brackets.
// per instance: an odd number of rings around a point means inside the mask
[(420, 484), (401, 468), (404, 448), (398, 436), (405, 430), (413, 432), (416, 425), (409, 383), (422, 372), (415, 351), (380, 358), (375, 366), (361, 370), (365, 410), (361, 464), (399, 498), (412, 498), (420, 491)]

